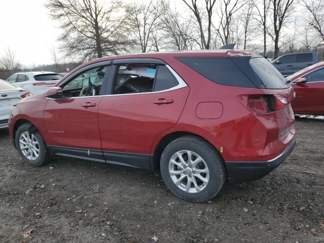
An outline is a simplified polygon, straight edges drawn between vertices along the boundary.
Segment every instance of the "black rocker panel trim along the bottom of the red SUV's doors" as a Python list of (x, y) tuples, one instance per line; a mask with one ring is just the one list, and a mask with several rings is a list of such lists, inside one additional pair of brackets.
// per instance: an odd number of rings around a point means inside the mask
[(87, 159), (103, 163), (130, 166), (150, 170), (150, 155), (139, 153), (111, 152), (83, 148), (69, 148), (47, 146), (51, 155), (61, 155), (80, 159)]

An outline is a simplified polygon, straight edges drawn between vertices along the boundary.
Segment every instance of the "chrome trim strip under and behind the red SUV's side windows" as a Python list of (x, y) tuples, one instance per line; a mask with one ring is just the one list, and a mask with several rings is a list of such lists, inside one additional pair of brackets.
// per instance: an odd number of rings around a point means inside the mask
[[(80, 97), (70, 97), (70, 98), (65, 98), (65, 99), (80, 99), (80, 98), (89, 98), (89, 97), (91, 98), (91, 97), (109, 97), (109, 96), (158, 94), (158, 93), (164, 93), (164, 92), (169, 92), (169, 91), (173, 91), (173, 90), (178, 90), (178, 89), (181, 89), (181, 88), (184, 88), (184, 87), (187, 87), (188, 86), (186, 84), (186, 82), (182, 79), (182, 77), (180, 77), (180, 75), (175, 70), (173, 70), (172, 67), (170, 67), (168, 64), (166, 64), (166, 67), (172, 72), (172, 74), (176, 77), (176, 79), (178, 80), (178, 83), (179, 83), (177, 86), (172, 87), (172, 88), (167, 89), (167, 90), (160, 90), (160, 91), (153, 91), (153, 92), (143, 92), (143, 93), (131, 93), (131, 94), (112, 94), (112, 95), (80, 96)], [(54, 99), (54, 98), (46, 97), (46, 99), (49, 99), (49, 100), (59, 100), (60, 98), (59, 99)]]

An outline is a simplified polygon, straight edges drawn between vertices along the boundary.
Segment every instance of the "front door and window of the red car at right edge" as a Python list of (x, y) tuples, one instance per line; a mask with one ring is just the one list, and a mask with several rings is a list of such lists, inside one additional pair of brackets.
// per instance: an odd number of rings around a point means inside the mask
[(292, 103), (296, 114), (324, 114), (324, 67), (311, 71), (303, 77), (306, 83), (292, 83), (296, 98)]

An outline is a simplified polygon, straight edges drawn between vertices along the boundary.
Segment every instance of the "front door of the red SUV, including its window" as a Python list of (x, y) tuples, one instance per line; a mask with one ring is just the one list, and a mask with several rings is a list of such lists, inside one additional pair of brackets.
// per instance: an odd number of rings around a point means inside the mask
[[(69, 153), (103, 159), (98, 128), (101, 87), (108, 79), (107, 65), (85, 67), (59, 85), (63, 96), (48, 99), (44, 110), (48, 146), (69, 149)], [(56, 148), (57, 150), (58, 148)], [(64, 153), (64, 152), (57, 152)]]

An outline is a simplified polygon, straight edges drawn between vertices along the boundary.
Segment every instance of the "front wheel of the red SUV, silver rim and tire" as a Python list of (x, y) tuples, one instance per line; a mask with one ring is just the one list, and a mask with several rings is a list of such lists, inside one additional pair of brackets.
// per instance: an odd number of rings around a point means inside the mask
[(44, 139), (37, 130), (30, 129), (32, 125), (25, 123), (16, 132), (15, 143), (20, 156), (32, 166), (42, 166), (50, 161)]

